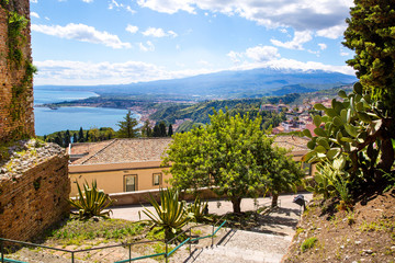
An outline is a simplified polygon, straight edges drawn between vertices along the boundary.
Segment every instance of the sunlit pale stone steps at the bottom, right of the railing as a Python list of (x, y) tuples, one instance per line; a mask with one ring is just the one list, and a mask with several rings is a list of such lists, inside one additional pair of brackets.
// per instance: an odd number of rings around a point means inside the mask
[(291, 239), (290, 236), (229, 229), (216, 245), (196, 248), (184, 263), (280, 263)]

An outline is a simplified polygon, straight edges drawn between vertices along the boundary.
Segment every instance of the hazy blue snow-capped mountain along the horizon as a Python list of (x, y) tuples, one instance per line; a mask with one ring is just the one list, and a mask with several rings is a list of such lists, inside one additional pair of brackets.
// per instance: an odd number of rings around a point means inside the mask
[(35, 87), (36, 89), (93, 91), (103, 94), (168, 95), (207, 99), (261, 98), (331, 89), (357, 81), (354, 76), (321, 70), (251, 69), (222, 71), (183, 79), (122, 85)]

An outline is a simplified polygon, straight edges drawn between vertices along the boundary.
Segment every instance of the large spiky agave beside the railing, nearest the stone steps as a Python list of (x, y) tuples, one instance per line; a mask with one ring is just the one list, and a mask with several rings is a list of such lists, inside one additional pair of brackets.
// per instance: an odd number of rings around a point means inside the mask
[(176, 188), (159, 190), (160, 204), (149, 194), (148, 201), (155, 211), (145, 208), (143, 210), (155, 226), (165, 229), (166, 239), (169, 240), (183, 226), (191, 220), (188, 216), (185, 202), (179, 201), (179, 191)]

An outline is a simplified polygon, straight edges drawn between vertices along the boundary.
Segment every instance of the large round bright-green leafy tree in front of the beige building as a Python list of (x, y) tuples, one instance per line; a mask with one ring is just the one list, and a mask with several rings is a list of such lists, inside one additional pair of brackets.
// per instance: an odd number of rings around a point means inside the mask
[[(260, 117), (252, 121), (248, 114), (230, 117), (219, 111), (211, 116), (211, 124), (176, 134), (162, 162), (171, 163), (171, 184), (183, 190), (212, 187), (226, 195), (235, 213), (240, 213), (242, 197), (257, 197), (267, 190), (273, 192), (278, 184), (271, 173), (279, 172), (274, 163), (292, 160), (272, 148), (273, 140), (260, 129)], [(293, 180), (289, 172), (281, 173), (287, 185), (292, 184), (287, 179)]]

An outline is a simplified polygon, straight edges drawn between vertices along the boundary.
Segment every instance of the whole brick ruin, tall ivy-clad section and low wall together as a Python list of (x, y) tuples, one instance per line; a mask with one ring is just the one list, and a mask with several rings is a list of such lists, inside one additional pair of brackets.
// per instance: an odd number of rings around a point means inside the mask
[[(26, 26), (11, 31), (10, 15), (26, 19)], [(18, 56), (11, 57), (14, 50)], [(64, 149), (52, 144), (13, 148), (35, 136), (32, 69), (30, 1), (0, 0), (0, 238), (23, 241), (69, 213), (70, 193)]]

